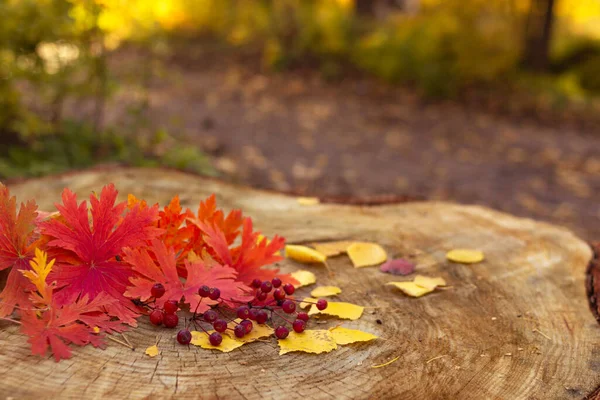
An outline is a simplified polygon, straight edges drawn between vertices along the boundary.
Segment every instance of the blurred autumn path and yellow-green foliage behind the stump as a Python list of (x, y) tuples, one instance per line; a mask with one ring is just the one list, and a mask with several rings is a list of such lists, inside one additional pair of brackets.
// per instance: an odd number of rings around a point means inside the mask
[(163, 165), (597, 239), (599, 95), (600, 0), (0, 0), (1, 180)]

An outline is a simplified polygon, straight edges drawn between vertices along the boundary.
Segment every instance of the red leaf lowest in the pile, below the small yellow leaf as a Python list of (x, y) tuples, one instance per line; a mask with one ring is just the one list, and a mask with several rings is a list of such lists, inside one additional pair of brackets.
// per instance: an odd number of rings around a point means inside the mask
[(102, 332), (121, 332), (124, 325), (110, 321), (102, 312), (117, 300), (100, 294), (89, 301), (85, 295), (61, 307), (53, 301), (46, 309), (21, 311), (21, 331), (29, 336), (32, 354), (45, 356), (48, 347), (56, 361), (71, 357), (70, 343), (104, 345)]

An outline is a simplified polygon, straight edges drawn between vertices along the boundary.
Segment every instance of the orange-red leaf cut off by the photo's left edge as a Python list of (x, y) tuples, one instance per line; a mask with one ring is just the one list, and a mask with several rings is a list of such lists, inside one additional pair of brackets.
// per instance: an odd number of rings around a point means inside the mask
[(25, 289), (32, 285), (18, 270), (28, 270), (33, 258), (37, 217), (35, 201), (21, 203), (17, 213), (16, 197), (10, 197), (8, 188), (0, 185), (0, 271), (12, 268), (0, 293), (0, 317), (28, 302)]

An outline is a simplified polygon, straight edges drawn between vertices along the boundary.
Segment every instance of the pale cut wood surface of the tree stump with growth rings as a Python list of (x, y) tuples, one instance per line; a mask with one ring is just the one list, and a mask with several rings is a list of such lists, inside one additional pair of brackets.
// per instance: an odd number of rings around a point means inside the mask
[[(257, 229), (288, 243), (377, 242), (450, 287), (409, 298), (385, 283), (410, 277), (355, 269), (346, 256), (330, 259), (333, 277), (324, 267), (281, 262), (284, 270), (309, 269), (318, 284), (341, 287), (340, 300), (369, 307), (344, 326), (381, 339), (322, 355), (279, 356), (274, 339), (231, 353), (188, 348), (176, 343), (176, 330), (142, 317), (127, 334), (134, 351), (109, 341), (106, 350), (75, 348), (71, 359), (55, 363), (30, 355), (18, 327), (1, 322), (4, 397), (580, 399), (600, 386), (600, 327), (584, 283), (592, 252), (564, 228), (439, 202), (303, 206), (291, 196), (157, 169), (91, 170), (9, 187), (19, 200), (33, 197), (52, 210), (64, 187), (83, 200), (110, 182), (122, 199), (133, 193), (164, 205), (179, 194), (194, 210), (216, 193), (221, 207), (242, 209)], [(486, 259), (448, 262), (454, 248), (483, 250)], [(313, 326), (339, 323), (321, 321)], [(161, 354), (149, 358), (144, 351), (157, 336)]]

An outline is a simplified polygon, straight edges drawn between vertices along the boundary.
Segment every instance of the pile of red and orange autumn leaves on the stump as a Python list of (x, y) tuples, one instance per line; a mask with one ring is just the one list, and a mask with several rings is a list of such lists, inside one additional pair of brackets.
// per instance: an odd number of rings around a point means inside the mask
[(240, 211), (225, 215), (214, 196), (196, 213), (178, 197), (163, 209), (116, 199), (113, 185), (89, 206), (65, 189), (57, 212), (45, 213), (33, 200), (17, 208), (0, 185), (0, 270), (9, 271), (0, 318), (21, 324), (33, 354), (50, 350), (60, 360), (71, 343), (103, 346), (105, 334), (136, 326), (143, 310), (133, 300), (149, 299), (155, 283), (166, 288), (162, 302), (183, 299), (198, 312), (214, 304), (200, 303), (202, 285), (218, 287), (235, 307), (253, 298), (253, 279), (296, 283), (262, 268), (281, 259), (283, 238), (262, 237)]

